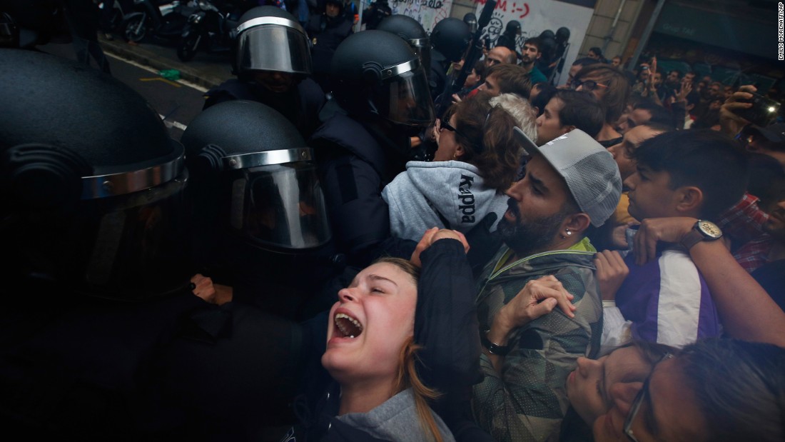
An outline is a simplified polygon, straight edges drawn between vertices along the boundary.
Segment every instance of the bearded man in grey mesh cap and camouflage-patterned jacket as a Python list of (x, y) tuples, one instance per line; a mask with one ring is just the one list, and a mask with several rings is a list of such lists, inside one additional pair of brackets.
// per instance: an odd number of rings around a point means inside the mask
[[(622, 180), (612, 155), (581, 130), (539, 148), (515, 130), (531, 159), (507, 191), (503, 245), (476, 279), (484, 376), (472, 410), (495, 440), (546, 440), (567, 411), (564, 384), (578, 357), (600, 349), (596, 250), (586, 231), (613, 214)], [(561, 292), (573, 306), (542, 301), (535, 305), (554, 311), (524, 316), (531, 305), (519, 292), (535, 288)]]

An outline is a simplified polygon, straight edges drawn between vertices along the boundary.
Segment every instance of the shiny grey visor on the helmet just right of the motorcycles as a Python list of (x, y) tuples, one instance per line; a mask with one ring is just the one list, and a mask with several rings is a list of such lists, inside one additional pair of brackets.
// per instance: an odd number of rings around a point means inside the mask
[(311, 51), (300, 31), (275, 24), (251, 27), (238, 36), (237, 68), (310, 75)]

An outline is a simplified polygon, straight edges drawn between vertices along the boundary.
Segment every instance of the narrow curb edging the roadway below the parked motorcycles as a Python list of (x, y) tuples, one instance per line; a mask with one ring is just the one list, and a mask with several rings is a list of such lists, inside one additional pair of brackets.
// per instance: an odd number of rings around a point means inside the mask
[[(196, 86), (201, 86), (205, 89), (212, 89), (215, 86), (220, 85), (222, 82), (225, 82), (226, 79), (234, 78), (234, 76), (229, 73), (228, 68), (225, 78), (221, 78), (219, 75), (214, 75), (204, 69), (199, 69), (192, 65), (184, 64), (179, 60), (172, 60), (168, 57), (162, 57), (162, 55), (159, 53), (145, 48), (145, 43), (132, 46), (122, 39), (115, 37), (114, 40), (108, 40), (104, 38), (103, 35), (98, 36), (98, 41), (100, 42), (101, 48), (104, 49), (104, 52), (106, 53), (111, 53), (116, 57), (125, 58), (127, 60), (133, 60), (138, 64), (148, 66), (149, 68), (153, 68), (156, 71), (177, 69), (177, 71), (180, 71), (180, 78), (182, 80), (193, 83)], [(166, 49), (168, 50), (169, 48)], [(162, 49), (159, 48), (159, 51), (160, 50)]]

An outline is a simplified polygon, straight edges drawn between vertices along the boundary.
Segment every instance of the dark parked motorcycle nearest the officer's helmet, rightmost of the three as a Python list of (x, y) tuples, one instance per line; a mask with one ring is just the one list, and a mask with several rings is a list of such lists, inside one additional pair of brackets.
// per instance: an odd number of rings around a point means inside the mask
[(190, 61), (199, 50), (208, 53), (225, 53), (232, 49), (232, 38), (235, 28), (239, 25), (242, 10), (231, 4), (220, 7), (209, 0), (196, 2), (198, 10), (188, 17), (180, 44), (177, 46), (177, 58)]

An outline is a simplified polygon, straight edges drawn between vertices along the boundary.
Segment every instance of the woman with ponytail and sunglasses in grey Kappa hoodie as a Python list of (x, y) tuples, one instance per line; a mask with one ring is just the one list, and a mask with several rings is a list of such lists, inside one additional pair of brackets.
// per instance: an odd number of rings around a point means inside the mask
[(504, 192), (516, 177), (523, 152), (513, 127), (527, 120), (529, 136), (536, 137), (528, 102), (502, 95), (502, 101), (513, 104), (494, 105), (499, 97), (491, 101), (490, 95), (480, 92), (452, 104), (443, 119), (436, 120), (439, 147), (433, 161), (407, 163), (407, 170), (382, 191), (392, 236), (418, 240), (428, 228), (468, 232), (487, 214), (501, 219), (507, 210)]

